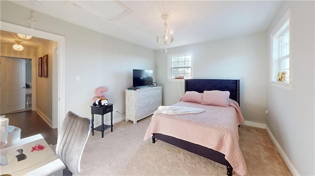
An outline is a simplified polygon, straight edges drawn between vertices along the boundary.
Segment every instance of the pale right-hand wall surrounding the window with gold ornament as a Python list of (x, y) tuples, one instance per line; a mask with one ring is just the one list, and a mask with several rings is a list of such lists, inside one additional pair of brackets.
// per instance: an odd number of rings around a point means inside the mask
[[(292, 7), (290, 74), (293, 76), (293, 86), (292, 90), (285, 90), (267, 84), (267, 130), (283, 153), (284, 161), (292, 174), (301, 176), (315, 175), (314, 6), (314, 1), (284, 1), (267, 31), (270, 55), (270, 34), (285, 12)], [(266, 62), (269, 61), (270, 57)], [(268, 64), (267, 80), (269, 71)]]

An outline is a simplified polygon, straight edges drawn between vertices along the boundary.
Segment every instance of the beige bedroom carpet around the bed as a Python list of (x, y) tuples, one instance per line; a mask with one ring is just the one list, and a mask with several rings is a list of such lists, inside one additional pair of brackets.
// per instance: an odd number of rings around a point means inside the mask
[[(114, 124), (90, 135), (81, 160), (81, 176), (226, 176), (226, 167), (189, 151), (151, 139), (143, 141), (151, 116), (136, 125)], [(248, 176), (291, 176), (265, 129), (241, 126), (240, 147)], [(233, 176), (238, 176), (233, 171)]]

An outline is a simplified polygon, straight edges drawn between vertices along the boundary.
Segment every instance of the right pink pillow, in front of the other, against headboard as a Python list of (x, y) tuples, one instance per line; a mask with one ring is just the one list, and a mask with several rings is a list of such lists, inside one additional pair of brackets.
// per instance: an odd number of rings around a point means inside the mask
[(215, 105), (215, 106), (228, 106), (230, 98), (229, 91), (203, 91), (201, 104)]

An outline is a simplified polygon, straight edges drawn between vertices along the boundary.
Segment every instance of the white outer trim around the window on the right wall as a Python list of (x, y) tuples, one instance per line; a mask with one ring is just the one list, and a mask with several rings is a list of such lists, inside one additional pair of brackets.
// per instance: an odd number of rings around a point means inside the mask
[[(270, 78), (269, 82), (270, 85), (279, 87), (282, 89), (292, 90), (293, 86), (293, 77), (292, 77), (292, 8), (290, 8), (285, 14), (284, 17), (281, 19), (281, 21), (278, 23), (278, 25), (274, 28), (274, 30), (270, 34)], [(286, 23), (286, 21), (289, 19), (289, 37), (290, 37), (290, 75), (289, 75), (289, 81), (290, 82), (278, 82), (273, 80), (273, 38), (276, 35), (276, 33), (282, 28), (282, 26)]]

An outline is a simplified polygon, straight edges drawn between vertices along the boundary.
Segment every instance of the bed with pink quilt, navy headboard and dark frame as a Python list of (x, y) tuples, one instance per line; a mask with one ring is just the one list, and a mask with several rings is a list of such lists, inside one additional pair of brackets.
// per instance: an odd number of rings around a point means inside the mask
[[(228, 107), (208, 105), (206, 103), (200, 104), (200, 99), (198, 99), (198, 102), (179, 101), (170, 107), (192, 107), (195, 109), (204, 109), (204, 112), (170, 115), (158, 113), (157, 110), (157, 113), (155, 112), (148, 126), (144, 140), (151, 137), (153, 143), (156, 142), (156, 139), (167, 142), (225, 165), (228, 176), (232, 176), (233, 168), (237, 174), (244, 176), (247, 174), (247, 167), (238, 143), (238, 126), (244, 122), (239, 108), (240, 80), (185, 80), (185, 96), (188, 93), (199, 93), (200, 95), (204, 95), (203, 97), (206, 97), (205, 95), (207, 94), (202, 94), (204, 91), (206, 91), (205, 93), (209, 93), (215, 92), (214, 90), (220, 93), (228, 91), (229, 103), (231, 104)], [(224, 118), (220, 115), (222, 109), (224, 109)], [(174, 122), (176, 125), (183, 124), (185, 127), (171, 125)], [(197, 139), (199, 136), (203, 137)], [(213, 140), (219, 142), (213, 142)]]

